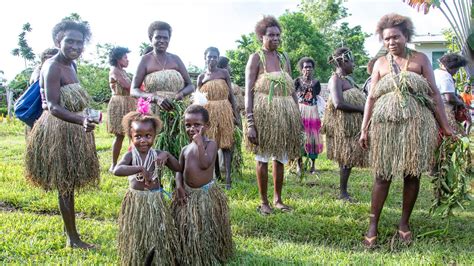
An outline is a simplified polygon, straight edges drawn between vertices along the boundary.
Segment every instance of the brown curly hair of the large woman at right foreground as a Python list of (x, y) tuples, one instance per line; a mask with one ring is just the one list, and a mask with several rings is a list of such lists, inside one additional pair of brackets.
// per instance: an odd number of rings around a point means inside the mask
[(411, 38), (415, 34), (415, 28), (411, 19), (395, 13), (383, 16), (377, 23), (375, 33), (379, 35), (380, 41), (383, 39), (383, 31), (389, 28), (398, 28), (407, 38), (408, 42), (411, 41)]

